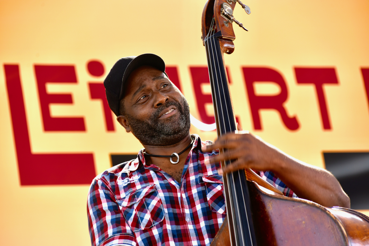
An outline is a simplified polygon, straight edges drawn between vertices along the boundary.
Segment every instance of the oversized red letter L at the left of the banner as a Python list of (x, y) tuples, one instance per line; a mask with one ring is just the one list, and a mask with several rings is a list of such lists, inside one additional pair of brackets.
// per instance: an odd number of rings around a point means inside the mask
[(4, 65), (21, 185), (90, 184), (93, 154), (33, 154), (18, 65)]

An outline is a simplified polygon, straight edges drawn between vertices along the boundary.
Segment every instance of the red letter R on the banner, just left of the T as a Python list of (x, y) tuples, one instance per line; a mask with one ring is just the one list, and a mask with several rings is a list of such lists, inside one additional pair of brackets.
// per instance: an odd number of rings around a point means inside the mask
[[(283, 103), (287, 100), (287, 86), (282, 75), (276, 70), (268, 67), (243, 67), (246, 90), (249, 97), (254, 129), (261, 130), (259, 110), (275, 109), (280, 113), (284, 125), (290, 130), (299, 128), (296, 117), (290, 118), (287, 115)], [(274, 82), (280, 86), (281, 92), (276, 96), (256, 96), (253, 84), (255, 82)]]

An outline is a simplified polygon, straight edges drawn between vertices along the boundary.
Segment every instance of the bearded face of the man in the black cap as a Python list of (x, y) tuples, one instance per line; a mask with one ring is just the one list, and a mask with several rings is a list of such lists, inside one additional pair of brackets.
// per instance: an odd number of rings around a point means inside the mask
[(172, 145), (189, 134), (186, 98), (163, 72), (141, 66), (127, 80), (125, 115), (118, 121), (143, 145)]

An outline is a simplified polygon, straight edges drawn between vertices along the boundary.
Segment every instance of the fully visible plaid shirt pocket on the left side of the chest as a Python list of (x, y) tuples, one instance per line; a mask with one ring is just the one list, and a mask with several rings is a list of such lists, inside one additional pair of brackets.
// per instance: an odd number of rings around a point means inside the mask
[(117, 200), (133, 232), (149, 229), (164, 219), (164, 209), (155, 185), (146, 186)]

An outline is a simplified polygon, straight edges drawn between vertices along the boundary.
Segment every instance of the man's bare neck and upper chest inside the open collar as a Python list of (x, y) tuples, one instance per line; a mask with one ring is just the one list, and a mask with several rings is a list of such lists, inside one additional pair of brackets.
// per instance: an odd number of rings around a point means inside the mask
[[(173, 145), (165, 145), (165, 146), (153, 146), (153, 145), (144, 145), (146, 152), (151, 155), (172, 155), (175, 153), (180, 153), (191, 143), (191, 135), (187, 135), (178, 143)], [(158, 166), (160, 169), (165, 171), (166, 173), (173, 176), (178, 182), (180, 182), (179, 173), (182, 174), (183, 166), (186, 161), (188, 154), (190, 153), (191, 148), (186, 149), (180, 156), (179, 162), (173, 164), (170, 162), (169, 157), (153, 157), (153, 156), (145, 156), (145, 162), (147, 164), (154, 164)], [(176, 157), (173, 157), (173, 160), (176, 160)]]

